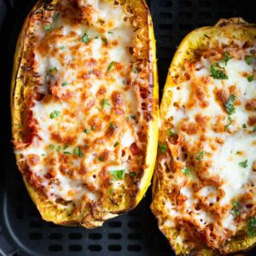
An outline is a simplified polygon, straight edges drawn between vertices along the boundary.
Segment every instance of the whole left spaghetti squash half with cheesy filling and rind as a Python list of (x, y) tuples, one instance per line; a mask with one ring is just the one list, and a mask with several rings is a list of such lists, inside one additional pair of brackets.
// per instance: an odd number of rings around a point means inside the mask
[(39, 1), (20, 32), (11, 98), (17, 165), (42, 218), (93, 228), (137, 206), (158, 137), (143, 0)]

